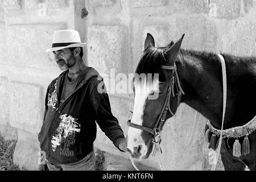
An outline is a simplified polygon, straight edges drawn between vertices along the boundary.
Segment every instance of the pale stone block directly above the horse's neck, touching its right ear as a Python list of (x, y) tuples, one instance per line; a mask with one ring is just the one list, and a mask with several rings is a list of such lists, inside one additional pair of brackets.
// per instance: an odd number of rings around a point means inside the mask
[(177, 37), (185, 34), (181, 48), (216, 51), (218, 36), (215, 22), (204, 17), (177, 16)]

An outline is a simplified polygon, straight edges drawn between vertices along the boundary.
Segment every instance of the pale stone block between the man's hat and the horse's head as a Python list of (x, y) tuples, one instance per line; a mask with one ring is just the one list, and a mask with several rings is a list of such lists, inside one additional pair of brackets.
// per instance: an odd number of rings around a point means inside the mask
[(124, 26), (93, 26), (88, 28), (88, 65), (100, 74), (127, 73), (129, 43), (127, 28)]

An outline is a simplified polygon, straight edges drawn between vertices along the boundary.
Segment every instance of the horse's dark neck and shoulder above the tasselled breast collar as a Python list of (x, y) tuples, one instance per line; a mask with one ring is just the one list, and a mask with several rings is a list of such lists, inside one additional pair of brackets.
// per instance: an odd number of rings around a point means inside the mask
[[(184, 62), (177, 63), (183, 72), (179, 74), (185, 92), (183, 102), (220, 128), (223, 105), (221, 64), (218, 56), (204, 59), (204, 56), (187, 53)], [(256, 114), (256, 71), (249, 72), (246, 64), (234, 65), (228, 60), (230, 57), (226, 59), (228, 88), (224, 129), (242, 126)]]

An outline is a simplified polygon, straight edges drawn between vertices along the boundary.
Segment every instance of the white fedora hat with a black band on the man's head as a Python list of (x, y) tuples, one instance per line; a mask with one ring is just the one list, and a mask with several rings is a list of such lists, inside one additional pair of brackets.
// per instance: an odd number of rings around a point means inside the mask
[(69, 47), (85, 47), (86, 43), (81, 43), (79, 32), (76, 30), (55, 31), (52, 40), (52, 48), (46, 52), (57, 51)]

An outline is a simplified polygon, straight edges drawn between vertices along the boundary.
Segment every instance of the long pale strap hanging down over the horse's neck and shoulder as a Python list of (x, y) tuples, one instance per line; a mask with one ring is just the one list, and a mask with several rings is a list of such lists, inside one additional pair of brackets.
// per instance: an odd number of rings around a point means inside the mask
[(223, 133), (223, 123), (225, 118), (225, 111), (226, 111), (226, 65), (224, 57), (221, 55), (218, 55), (221, 60), (221, 68), (222, 68), (222, 84), (223, 84), (223, 112), (222, 112), (222, 123), (221, 123), (221, 134), (220, 134), (220, 142), (218, 142), (218, 148), (217, 148), (217, 156), (216, 156), (216, 164), (212, 165), (212, 168), (210, 168), (210, 171), (215, 171), (215, 168), (218, 163), (218, 157), (220, 155), (220, 148), (221, 148), (221, 140), (222, 140), (222, 133)]

